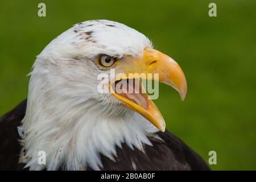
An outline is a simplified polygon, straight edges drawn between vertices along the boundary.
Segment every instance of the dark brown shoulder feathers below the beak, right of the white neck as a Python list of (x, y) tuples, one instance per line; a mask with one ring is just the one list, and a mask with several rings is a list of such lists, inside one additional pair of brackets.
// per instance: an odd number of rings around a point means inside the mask
[(160, 139), (149, 137), (152, 146), (131, 149), (123, 143), (116, 147), (114, 160), (101, 155), (103, 170), (210, 170), (207, 163), (181, 139), (165, 131)]

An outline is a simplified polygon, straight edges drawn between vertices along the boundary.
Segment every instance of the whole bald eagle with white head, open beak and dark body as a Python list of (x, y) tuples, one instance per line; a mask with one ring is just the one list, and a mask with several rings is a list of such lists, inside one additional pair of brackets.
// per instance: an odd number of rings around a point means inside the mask
[[(0, 118), (0, 169), (208, 170), (165, 131), (146, 93), (98, 92), (98, 75), (111, 69), (127, 80), (157, 73), (182, 100), (187, 93), (179, 65), (140, 32), (110, 20), (75, 24), (36, 57), (27, 100)], [(111, 90), (119, 81), (105, 84)]]

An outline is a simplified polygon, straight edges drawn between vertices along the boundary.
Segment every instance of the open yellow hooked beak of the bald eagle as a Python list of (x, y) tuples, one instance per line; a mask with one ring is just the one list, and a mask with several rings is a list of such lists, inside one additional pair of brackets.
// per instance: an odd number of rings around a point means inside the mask
[[(158, 74), (158, 81), (176, 89), (180, 94), (181, 100), (184, 100), (187, 94), (187, 81), (179, 65), (171, 59), (171, 57), (152, 48), (145, 48), (143, 56), (140, 58), (131, 56), (123, 57), (115, 67), (115, 74), (118, 75), (118, 73), (124, 74), (126, 80), (139, 80), (140, 78), (154, 80), (154, 75)], [(152, 77), (148, 77), (150, 74), (147, 73), (151, 73)], [(115, 86), (118, 84), (118, 81), (122, 79), (122, 77), (115, 77), (114, 80), (110, 82), (109, 87), (113, 95), (123, 101), (124, 106), (137, 111), (160, 131), (164, 131), (166, 123), (164, 122), (162, 114), (155, 106), (154, 102), (148, 98), (147, 93), (115, 92)]]

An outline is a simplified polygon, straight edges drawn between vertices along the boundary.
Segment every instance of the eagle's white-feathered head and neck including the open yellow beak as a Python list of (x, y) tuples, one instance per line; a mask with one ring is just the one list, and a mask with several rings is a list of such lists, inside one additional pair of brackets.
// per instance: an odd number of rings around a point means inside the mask
[[(37, 56), (30, 76), (19, 129), (26, 151), (20, 162), (30, 169), (100, 169), (100, 154), (114, 160), (122, 143), (143, 151), (151, 145), (148, 135), (157, 137), (166, 125), (142, 92), (142, 80), (171, 85), (182, 100), (187, 93), (183, 71), (171, 57), (140, 32), (110, 20), (78, 23), (57, 36)], [(47, 154), (44, 166), (37, 163), (38, 151)]]

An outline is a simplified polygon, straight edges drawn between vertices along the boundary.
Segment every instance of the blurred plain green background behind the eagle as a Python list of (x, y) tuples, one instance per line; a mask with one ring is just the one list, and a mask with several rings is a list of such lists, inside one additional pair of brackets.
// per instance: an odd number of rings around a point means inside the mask
[[(46, 17), (38, 3), (46, 3)], [(208, 16), (210, 2), (217, 17)], [(188, 94), (160, 85), (167, 129), (212, 169), (256, 169), (256, 1), (1, 1), (0, 115), (27, 97), (35, 56), (61, 32), (90, 19), (141, 31), (183, 68)]]

